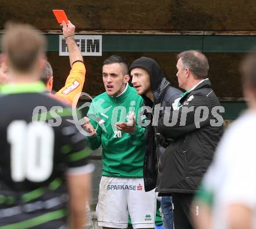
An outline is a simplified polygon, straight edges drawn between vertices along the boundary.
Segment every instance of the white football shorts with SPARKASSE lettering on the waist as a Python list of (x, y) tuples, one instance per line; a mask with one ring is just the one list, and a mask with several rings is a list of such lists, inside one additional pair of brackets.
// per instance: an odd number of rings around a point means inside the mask
[(155, 190), (145, 192), (143, 178), (101, 177), (96, 208), (98, 226), (127, 228), (128, 215), (133, 228), (154, 228)]

